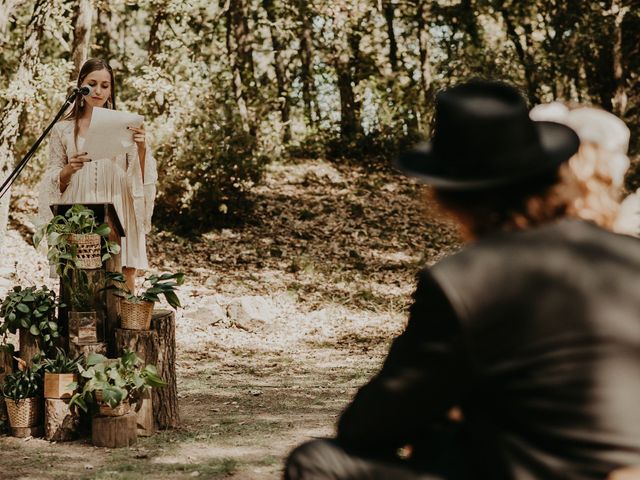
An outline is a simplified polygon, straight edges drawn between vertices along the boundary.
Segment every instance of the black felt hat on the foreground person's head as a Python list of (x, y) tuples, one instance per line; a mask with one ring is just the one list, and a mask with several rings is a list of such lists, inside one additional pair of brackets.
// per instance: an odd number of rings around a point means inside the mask
[(435, 120), (432, 141), (395, 164), (441, 189), (486, 189), (553, 172), (580, 145), (569, 127), (531, 120), (518, 90), (499, 82), (472, 81), (438, 94)]

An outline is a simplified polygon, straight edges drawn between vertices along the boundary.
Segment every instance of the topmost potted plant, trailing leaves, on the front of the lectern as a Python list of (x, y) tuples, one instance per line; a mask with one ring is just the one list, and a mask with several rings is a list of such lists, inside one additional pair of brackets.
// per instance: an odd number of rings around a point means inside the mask
[(120, 247), (109, 241), (111, 229), (106, 223), (98, 224), (93, 210), (84, 205), (74, 205), (64, 215), (56, 215), (42, 225), (33, 237), (37, 247), (46, 237), (47, 257), (56, 266), (61, 277), (69, 278), (70, 269), (94, 269)]

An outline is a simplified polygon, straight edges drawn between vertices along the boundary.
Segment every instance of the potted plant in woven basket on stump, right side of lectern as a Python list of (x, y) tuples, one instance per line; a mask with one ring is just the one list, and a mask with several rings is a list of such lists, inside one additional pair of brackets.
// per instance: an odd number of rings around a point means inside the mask
[(117, 282), (113, 288), (120, 297), (121, 326), (127, 330), (149, 330), (153, 305), (164, 295), (167, 303), (173, 308), (179, 308), (180, 299), (176, 295), (176, 287), (184, 283), (184, 273), (163, 273), (145, 278), (142, 293), (132, 294), (126, 287), (121, 273), (107, 274), (110, 280)]

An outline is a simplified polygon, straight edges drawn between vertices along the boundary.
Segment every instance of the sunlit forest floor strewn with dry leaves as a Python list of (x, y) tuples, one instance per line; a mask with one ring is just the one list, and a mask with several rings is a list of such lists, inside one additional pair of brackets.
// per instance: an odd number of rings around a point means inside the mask
[[(182, 426), (113, 450), (0, 437), (1, 479), (278, 479), (295, 445), (334, 432), (401, 331), (415, 274), (457, 237), (425, 220), (418, 186), (389, 172), (276, 163), (255, 195), (242, 228), (148, 239), (153, 272), (187, 275), (176, 335)], [(14, 284), (54, 285), (18, 228), (33, 199), (14, 206), (0, 270)]]

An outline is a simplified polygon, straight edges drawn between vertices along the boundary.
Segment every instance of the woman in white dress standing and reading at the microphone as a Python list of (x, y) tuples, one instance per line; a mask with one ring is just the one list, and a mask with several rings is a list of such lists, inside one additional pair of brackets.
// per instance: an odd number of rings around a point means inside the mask
[(114, 158), (89, 158), (82, 150), (94, 107), (115, 109), (113, 71), (99, 59), (87, 60), (77, 86), (91, 87), (86, 97), (78, 96), (71, 111), (51, 130), (49, 163), (40, 184), (40, 217), (51, 218), (55, 203), (112, 203), (125, 230), (122, 265), (127, 286), (134, 291), (137, 269), (148, 268), (145, 235), (158, 178), (156, 162), (146, 143), (143, 126), (128, 127), (134, 146)]

